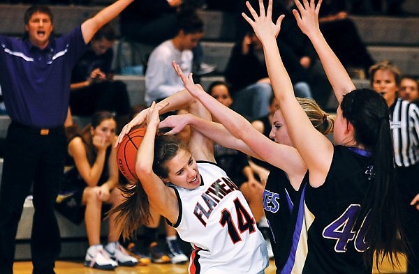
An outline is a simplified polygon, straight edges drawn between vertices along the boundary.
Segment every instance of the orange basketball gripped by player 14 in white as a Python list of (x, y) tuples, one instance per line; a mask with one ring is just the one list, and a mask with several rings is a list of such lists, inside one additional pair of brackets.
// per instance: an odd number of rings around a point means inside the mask
[(119, 171), (128, 181), (138, 181), (135, 174), (135, 158), (138, 147), (145, 135), (145, 128), (134, 127), (124, 136), (122, 142), (117, 146), (117, 163)]

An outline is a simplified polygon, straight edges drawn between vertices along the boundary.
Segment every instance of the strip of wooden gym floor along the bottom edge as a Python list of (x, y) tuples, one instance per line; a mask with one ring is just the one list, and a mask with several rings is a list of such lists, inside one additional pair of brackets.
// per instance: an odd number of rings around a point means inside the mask
[[(400, 263), (402, 267), (399, 269), (393, 269), (390, 264), (385, 261), (380, 266), (380, 273), (406, 273), (406, 259), (401, 257)], [(31, 261), (16, 261), (13, 266), (14, 274), (31, 274), (32, 263)], [(57, 274), (187, 274), (188, 264), (176, 265), (176, 264), (149, 264), (148, 266), (135, 266), (135, 267), (124, 267), (119, 266), (115, 271), (101, 271), (93, 268), (83, 266), (82, 261), (57, 261), (55, 267), (55, 273)], [(266, 268), (265, 274), (274, 274), (275, 266), (274, 261), (270, 260), (270, 266)], [(372, 273), (378, 273), (374, 269)]]

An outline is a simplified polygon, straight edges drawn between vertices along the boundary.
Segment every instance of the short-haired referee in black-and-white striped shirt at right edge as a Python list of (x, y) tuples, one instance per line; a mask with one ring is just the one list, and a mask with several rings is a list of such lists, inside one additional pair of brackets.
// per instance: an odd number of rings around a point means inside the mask
[(419, 211), (411, 204), (419, 194), (419, 108), (397, 97), (402, 71), (390, 61), (380, 61), (369, 68), (371, 86), (390, 108), (390, 125), (397, 182), (406, 213), (405, 232), (410, 252), (408, 274), (419, 273)]

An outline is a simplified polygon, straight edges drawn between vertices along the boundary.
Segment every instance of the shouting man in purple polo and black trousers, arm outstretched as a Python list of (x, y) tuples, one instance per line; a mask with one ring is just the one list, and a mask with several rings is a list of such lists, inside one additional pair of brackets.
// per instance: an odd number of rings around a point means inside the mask
[(12, 122), (6, 136), (0, 186), (0, 273), (13, 273), (15, 236), (33, 185), (33, 274), (53, 274), (61, 240), (54, 214), (66, 155), (64, 121), (71, 70), (96, 31), (133, 0), (103, 8), (81, 26), (53, 38), (47, 6), (24, 14), (22, 39), (0, 35), (0, 85)]

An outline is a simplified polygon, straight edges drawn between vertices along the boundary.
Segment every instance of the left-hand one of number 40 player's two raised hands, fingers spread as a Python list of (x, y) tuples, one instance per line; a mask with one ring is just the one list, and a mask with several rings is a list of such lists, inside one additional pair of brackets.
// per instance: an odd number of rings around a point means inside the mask
[(279, 16), (275, 24), (272, 22), (272, 0), (269, 1), (266, 12), (263, 0), (259, 0), (260, 15), (256, 13), (249, 1), (246, 2), (246, 6), (250, 11), (253, 20), (245, 13), (242, 13), (242, 16), (244, 20), (251, 25), (259, 40), (263, 43), (266, 39), (277, 38), (278, 33), (281, 30), (281, 22), (285, 15)]

